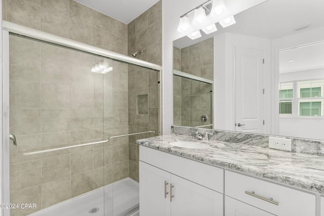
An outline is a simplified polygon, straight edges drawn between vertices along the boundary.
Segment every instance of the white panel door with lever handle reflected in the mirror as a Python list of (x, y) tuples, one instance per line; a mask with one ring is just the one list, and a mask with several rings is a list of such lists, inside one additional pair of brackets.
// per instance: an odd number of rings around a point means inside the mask
[(235, 47), (235, 124), (263, 133), (263, 50)]

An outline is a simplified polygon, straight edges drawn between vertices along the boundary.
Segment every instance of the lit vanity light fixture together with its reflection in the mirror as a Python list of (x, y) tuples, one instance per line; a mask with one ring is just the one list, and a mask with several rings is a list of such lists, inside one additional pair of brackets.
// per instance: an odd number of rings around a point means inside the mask
[(200, 30), (206, 34), (217, 31), (215, 25), (217, 22), (224, 28), (236, 23), (227, 10), (224, 0), (209, 0), (180, 16), (177, 30), (191, 39), (196, 39), (201, 36)]

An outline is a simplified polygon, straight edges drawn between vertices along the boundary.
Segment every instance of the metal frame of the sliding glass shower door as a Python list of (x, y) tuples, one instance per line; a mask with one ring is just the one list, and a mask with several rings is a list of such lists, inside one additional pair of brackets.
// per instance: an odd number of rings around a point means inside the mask
[[(53, 45), (59, 45), (65, 48), (74, 49), (81, 52), (95, 54), (103, 57), (107, 57), (113, 60), (117, 60), (124, 63), (130, 63), (138, 66), (142, 66), (148, 69), (155, 70), (159, 74), (159, 88), (158, 88), (158, 135), (163, 135), (163, 102), (162, 102), (162, 67), (153, 63), (149, 63), (143, 60), (135, 59), (129, 56), (114, 53), (108, 50), (97, 48), (91, 45), (83, 44), (75, 40), (67, 39), (61, 36), (57, 36), (44, 31), (36, 30), (26, 26), (18, 25), (8, 21), (2, 21), (2, 75), (0, 77), (0, 93), (2, 95), (2, 112), (1, 116), (1, 145), (0, 145), (0, 181), (1, 181), (1, 203), (10, 203), (10, 144), (9, 140), (9, 33), (14, 33), (22, 36), (26, 36), (29, 39), (36, 39), (43, 42), (49, 42)], [(19, 145), (19, 143), (17, 144)], [(0, 216), (9, 216), (10, 209), (1, 208)]]

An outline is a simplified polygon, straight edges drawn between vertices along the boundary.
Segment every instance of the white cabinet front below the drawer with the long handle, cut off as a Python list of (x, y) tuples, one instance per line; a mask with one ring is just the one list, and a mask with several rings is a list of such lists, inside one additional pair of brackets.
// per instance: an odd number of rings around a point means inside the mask
[(252, 205), (225, 196), (225, 216), (273, 216)]

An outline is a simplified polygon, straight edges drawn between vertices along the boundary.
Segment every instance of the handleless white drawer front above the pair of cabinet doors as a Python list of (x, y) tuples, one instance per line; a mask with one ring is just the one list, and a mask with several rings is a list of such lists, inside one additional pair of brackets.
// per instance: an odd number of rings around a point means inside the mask
[(140, 160), (223, 194), (224, 169), (144, 146)]

